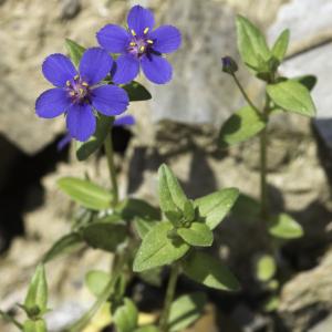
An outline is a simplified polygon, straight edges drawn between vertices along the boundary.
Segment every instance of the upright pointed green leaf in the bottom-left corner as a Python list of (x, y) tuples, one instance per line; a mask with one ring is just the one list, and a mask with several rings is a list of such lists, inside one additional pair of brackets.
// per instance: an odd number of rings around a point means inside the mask
[[(44, 313), (48, 310), (48, 282), (43, 264), (39, 264), (31, 279), (29, 290), (23, 304), (28, 315)], [(34, 315), (33, 314), (33, 315)], [(34, 317), (33, 317), (34, 318)]]

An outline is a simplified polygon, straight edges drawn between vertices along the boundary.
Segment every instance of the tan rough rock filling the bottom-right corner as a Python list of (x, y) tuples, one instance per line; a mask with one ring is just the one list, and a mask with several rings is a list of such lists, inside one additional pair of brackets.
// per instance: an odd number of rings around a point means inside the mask
[[(332, 251), (329, 250), (317, 268), (299, 273), (284, 284), (278, 312), (288, 329), (293, 332), (330, 331), (326, 324), (330, 322), (331, 326), (331, 319), (320, 321), (332, 310), (331, 272)], [(320, 330), (322, 324), (325, 330)]]

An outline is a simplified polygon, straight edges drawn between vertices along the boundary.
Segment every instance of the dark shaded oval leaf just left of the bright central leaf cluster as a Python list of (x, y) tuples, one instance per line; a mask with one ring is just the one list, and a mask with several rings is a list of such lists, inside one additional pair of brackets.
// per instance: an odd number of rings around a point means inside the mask
[(127, 230), (124, 225), (94, 222), (83, 229), (82, 236), (91, 247), (113, 252), (125, 241)]

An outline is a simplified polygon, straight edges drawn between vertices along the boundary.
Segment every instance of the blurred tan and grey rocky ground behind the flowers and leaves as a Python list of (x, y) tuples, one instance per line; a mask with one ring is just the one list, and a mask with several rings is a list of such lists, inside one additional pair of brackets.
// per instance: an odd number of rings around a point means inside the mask
[[(229, 151), (216, 145), (222, 122), (243, 105), (220, 66), (224, 55), (239, 60), (237, 13), (257, 23), (270, 42), (289, 28), (289, 56), (281, 72), (314, 74), (319, 80), (313, 92), (317, 120), (280, 115), (270, 127), (272, 208), (292, 215), (305, 231), (303, 238), (282, 247), (288, 273), (277, 309), (267, 312), (269, 291), (252, 277), (252, 258), (261, 250), (256, 225), (231, 216), (219, 227), (212, 250), (231, 267), (242, 291), (207, 291), (206, 314), (190, 331), (332, 331), (331, 0), (0, 0), (0, 308), (17, 310), (41, 255), (70, 230), (75, 207), (56, 189), (56, 179), (87, 173), (108, 186), (102, 155), (82, 164), (71, 148), (59, 152), (63, 120), (35, 116), (34, 101), (49, 89), (41, 74), (42, 61), (50, 53), (64, 53), (65, 38), (95, 45), (95, 32), (105, 23), (123, 23), (136, 3), (153, 9), (158, 25), (178, 27), (183, 45), (169, 56), (172, 83), (154, 86), (139, 77), (153, 100), (133, 103), (129, 113), (137, 124), (113, 133), (123, 196), (157, 204), (156, 170), (163, 162), (191, 198), (227, 186), (258, 196), (258, 142)], [(261, 84), (242, 65), (239, 77), (250, 96), (259, 100)], [(98, 250), (50, 263), (50, 307), (54, 310), (49, 314), (50, 332), (61, 331), (91, 305), (84, 276), (90, 269), (107, 267), (107, 256)], [(131, 294), (153, 313), (160, 304), (157, 298), (163, 287), (164, 282), (156, 288), (136, 281)], [(195, 289), (197, 286), (180, 279), (179, 293)], [(93, 325), (86, 331), (102, 328)], [(0, 322), (0, 331), (14, 330)]]

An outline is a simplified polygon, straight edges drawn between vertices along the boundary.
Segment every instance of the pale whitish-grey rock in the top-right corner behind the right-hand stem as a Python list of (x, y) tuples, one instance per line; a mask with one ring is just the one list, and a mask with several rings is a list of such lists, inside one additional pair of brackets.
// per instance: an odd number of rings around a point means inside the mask
[[(271, 41), (286, 28), (291, 31), (289, 59), (281, 72), (289, 76), (313, 74), (318, 84), (313, 98), (318, 114), (314, 122), (325, 143), (332, 147), (331, 122), (332, 102), (330, 97), (330, 79), (332, 72), (331, 56), (331, 14), (332, 1), (293, 0), (281, 7), (276, 23), (269, 30)], [(304, 19), (305, 18), (305, 19)], [(319, 20), (318, 20), (319, 18)]]

